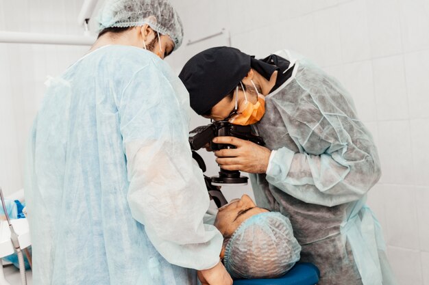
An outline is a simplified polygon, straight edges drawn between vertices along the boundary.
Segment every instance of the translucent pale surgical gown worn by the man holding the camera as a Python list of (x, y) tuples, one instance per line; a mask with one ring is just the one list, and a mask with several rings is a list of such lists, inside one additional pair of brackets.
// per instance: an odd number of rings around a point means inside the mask
[(371, 134), (341, 84), (308, 60), (280, 51), (293, 75), (266, 96), (256, 132), (274, 150), (266, 174), (252, 174), (258, 206), (289, 217), (301, 260), (320, 285), (396, 284), (380, 224), (365, 206), (380, 178)]

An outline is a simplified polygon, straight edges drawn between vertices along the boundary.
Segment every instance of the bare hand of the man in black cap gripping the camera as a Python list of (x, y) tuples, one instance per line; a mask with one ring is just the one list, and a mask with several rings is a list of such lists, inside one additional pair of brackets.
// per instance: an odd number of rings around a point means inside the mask
[(248, 173), (267, 172), (269, 156), (271, 155), (271, 150), (268, 148), (236, 137), (215, 137), (213, 142), (236, 146), (236, 148), (215, 152), (216, 162), (222, 169), (241, 170)]

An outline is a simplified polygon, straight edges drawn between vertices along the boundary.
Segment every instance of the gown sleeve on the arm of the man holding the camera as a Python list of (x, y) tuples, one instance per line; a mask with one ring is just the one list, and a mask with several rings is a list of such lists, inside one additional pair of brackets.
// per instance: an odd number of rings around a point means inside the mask
[(297, 79), (291, 94), (302, 97), (292, 104), (277, 101), (299, 151), (273, 151), (266, 176), (289, 195), (323, 206), (363, 198), (381, 174), (371, 134), (356, 119), (351, 98), (333, 80), (326, 77), (307, 87)]

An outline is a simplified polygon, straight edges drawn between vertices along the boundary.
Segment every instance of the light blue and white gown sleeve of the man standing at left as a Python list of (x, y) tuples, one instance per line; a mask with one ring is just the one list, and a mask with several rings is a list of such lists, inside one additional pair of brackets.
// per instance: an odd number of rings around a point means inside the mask
[(219, 262), (223, 237), (203, 223), (210, 199), (188, 144), (187, 93), (179, 82), (149, 64), (123, 91), (119, 116), (130, 181), (127, 200), (168, 262), (209, 269)]

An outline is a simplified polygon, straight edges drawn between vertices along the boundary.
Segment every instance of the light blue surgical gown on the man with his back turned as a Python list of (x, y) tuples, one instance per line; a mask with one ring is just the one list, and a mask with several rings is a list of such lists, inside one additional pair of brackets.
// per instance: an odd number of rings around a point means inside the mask
[(194, 285), (219, 262), (189, 109), (167, 63), (132, 46), (51, 80), (27, 155), (34, 284)]

